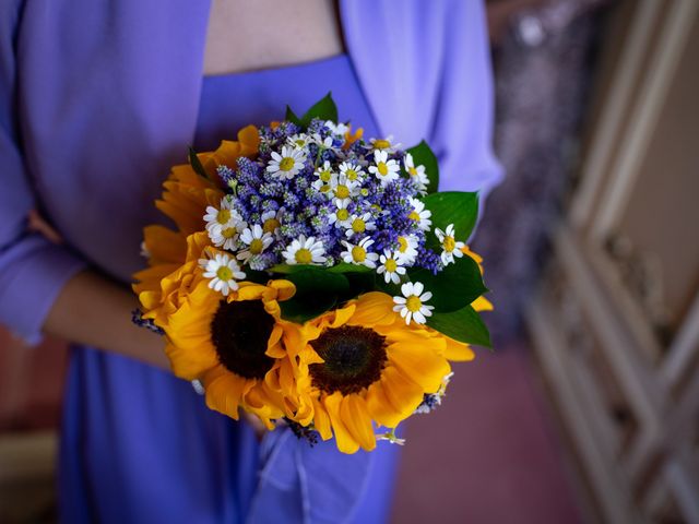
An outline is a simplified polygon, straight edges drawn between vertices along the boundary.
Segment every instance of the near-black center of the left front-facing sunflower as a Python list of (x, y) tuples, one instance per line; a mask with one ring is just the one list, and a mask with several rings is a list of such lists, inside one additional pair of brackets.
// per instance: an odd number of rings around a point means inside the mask
[(222, 300), (211, 322), (211, 340), (218, 361), (246, 379), (263, 379), (274, 364), (264, 354), (272, 327), (274, 319), (260, 300)]

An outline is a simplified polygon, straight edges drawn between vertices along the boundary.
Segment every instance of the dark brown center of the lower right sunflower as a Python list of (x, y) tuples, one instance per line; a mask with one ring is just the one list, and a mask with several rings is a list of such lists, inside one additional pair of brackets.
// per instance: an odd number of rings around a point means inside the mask
[(381, 378), (387, 362), (386, 337), (368, 327), (325, 330), (310, 344), (324, 360), (309, 367), (312, 383), (328, 394), (358, 393)]

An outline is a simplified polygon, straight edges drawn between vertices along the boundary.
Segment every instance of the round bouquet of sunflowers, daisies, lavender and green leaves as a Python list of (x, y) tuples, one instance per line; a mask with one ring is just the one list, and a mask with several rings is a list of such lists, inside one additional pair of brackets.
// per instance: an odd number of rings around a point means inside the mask
[(164, 334), (173, 371), (206, 404), (340, 451), (402, 443), (441, 402), (450, 361), (489, 346), (477, 194), (437, 192), (425, 142), (363, 140), (330, 95), (303, 117), (190, 148), (144, 230), (135, 321)]

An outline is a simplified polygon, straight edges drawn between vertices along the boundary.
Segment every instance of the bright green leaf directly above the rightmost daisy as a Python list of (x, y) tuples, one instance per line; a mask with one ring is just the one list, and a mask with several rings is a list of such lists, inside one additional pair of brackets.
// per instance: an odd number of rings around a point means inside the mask
[[(433, 213), (433, 229), (438, 227), (443, 231), (449, 224), (453, 224), (457, 240), (469, 240), (478, 218), (478, 193), (443, 191), (428, 194), (422, 201)], [(441, 252), (434, 233), (427, 234), (427, 247)]]

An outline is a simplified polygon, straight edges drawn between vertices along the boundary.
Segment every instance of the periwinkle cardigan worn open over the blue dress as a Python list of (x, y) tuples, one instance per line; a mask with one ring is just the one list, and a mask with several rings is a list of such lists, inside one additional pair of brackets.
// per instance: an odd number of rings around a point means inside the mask
[[(0, 323), (36, 340), (88, 264), (127, 283), (153, 200), (197, 123), (206, 0), (0, 2)], [(501, 177), (481, 0), (343, 0), (347, 51), (383, 134), (426, 139), (441, 190)], [(232, 130), (234, 131), (234, 130)], [(39, 209), (57, 246), (26, 229)]]

